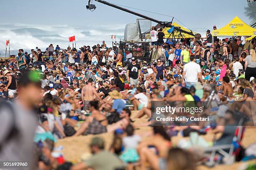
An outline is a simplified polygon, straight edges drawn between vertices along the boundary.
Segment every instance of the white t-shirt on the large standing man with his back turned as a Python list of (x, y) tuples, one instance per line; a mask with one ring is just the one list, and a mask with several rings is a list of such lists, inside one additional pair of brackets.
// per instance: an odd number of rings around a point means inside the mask
[(200, 65), (195, 62), (189, 62), (184, 65), (184, 71), (186, 71), (185, 78), (187, 82), (197, 82), (198, 72), (201, 72)]

